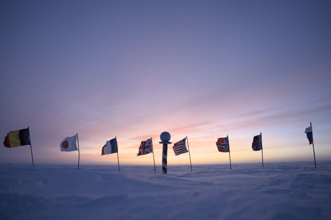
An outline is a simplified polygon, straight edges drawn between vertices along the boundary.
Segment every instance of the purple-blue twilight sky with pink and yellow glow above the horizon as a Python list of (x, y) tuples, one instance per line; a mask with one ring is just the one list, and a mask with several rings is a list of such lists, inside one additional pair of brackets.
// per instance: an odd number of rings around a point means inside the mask
[[(117, 137), (119, 164), (160, 134), (188, 137), (192, 165), (331, 158), (330, 1), (1, 1), (1, 126), (30, 128), (34, 163), (75, 164), (60, 142), (78, 133), (81, 164)], [(189, 164), (168, 146), (168, 165)], [(0, 162), (31, 163), (30, 147)]]

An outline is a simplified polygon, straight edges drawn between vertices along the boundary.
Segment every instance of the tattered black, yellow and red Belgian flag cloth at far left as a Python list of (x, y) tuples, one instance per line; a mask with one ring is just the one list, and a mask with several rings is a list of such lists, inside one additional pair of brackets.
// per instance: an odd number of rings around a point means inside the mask
[(29, 139), (29, 128), (9, 131), (3, 142), (5, 147), (19, 147), (29, 144), (31, 144)]

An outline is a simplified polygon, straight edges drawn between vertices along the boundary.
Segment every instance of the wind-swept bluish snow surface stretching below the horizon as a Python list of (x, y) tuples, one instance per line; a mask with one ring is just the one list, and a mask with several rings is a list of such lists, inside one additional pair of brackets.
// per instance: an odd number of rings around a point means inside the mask
[(0, 219), (331, 219), (331, 162), (0, 165)]

